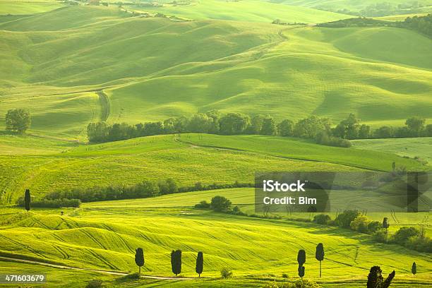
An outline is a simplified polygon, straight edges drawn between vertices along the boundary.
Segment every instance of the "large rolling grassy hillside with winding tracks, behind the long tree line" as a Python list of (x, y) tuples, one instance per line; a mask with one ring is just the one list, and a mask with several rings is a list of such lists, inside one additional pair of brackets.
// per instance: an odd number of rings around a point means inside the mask
[(86, 124), (102, 117), (210, 109), (277, 120), (355, 113), (372, 126), (432, 119), (432, 40), (409, 30), (179, 23), (78, 6), (3, 22), (0, 39), (0, 115), (29, 109), (38, 135), (85, 140)]

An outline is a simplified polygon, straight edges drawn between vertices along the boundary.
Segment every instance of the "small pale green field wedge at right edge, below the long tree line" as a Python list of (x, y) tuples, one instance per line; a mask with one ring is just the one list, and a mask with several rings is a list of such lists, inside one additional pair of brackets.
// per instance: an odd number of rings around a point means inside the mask
[(432, 138), (370, 139), (352, 141), (355, 148), (390, 152), (432, 162)]

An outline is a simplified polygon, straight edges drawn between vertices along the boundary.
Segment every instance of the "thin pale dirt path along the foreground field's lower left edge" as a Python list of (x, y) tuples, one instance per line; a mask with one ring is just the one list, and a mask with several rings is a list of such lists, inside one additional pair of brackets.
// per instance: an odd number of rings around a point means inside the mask
[[(77, 268), (77, 267), (71, 267), (71, 266), (66, 266), (66, 265), (44, 263), (42, 261), (36, 261), (36, 260), (25, 260), (25, 259), (18, 259), (18, 258), (3, 257), (3, 256), (0, 256), (0, 261), (43, 265), (43, 266), (47, 266), (47, 267), (51, 267), (51, 268), (98, 272), (98, 273), (104, 273), (104, 274), (109, 274), (109, 275), (118, 275), (118, 276), (128, 275), (128, 273), (126, 273), (126, 272), (96, 270), (96, 269), (88, 269), (88, 268)], [(141, 275), (141, 277), (146, 278), (146, 279), (155, 279), (155, 280), (193, 280), (193, 279), (195, 279), (195, 278), (191, 278), (191, 277), (164, 277), (164, 276), (150, 276), (150, 275)]]

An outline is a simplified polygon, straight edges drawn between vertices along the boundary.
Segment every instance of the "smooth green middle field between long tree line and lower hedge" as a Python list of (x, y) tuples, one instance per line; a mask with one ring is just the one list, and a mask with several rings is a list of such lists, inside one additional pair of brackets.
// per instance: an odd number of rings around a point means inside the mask
[(4, 203), (21, 196), (24, 187), (36, 196), (57, 189), (133, 185), (145, 179), (173, 178), (182, 186), (198, 181), (253, 183), (256, 171), (280, 171), (281, 167), (289, 171), (388, 171), (397, 162), (409, 170), (428, 169), (415, 160), (382, 152), (271, 136), (184, 134), (95, 145), (8, 136), (1, 143)]

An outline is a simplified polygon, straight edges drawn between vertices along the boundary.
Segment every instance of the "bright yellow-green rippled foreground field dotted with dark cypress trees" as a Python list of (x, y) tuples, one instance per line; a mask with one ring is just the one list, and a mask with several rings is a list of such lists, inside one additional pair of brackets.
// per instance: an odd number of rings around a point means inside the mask
[[(191, 208), (194, 203), (215, 195), (229, 195), (234, 204), (250, 199), (247, 189), (234, 189), (88, 203), (76, 210), (66, 210), (64, 216), (59, 215), (59, 210), (25, 213), (4, 209), (0, 214), (0, 254), (128, 272), (136, 270), (133, 248), (142, 246), (146, 257), (144, 274), (170, 276), (169, 251), (181, 248), (182, 276), (196, 277), (195, 254), (203, 251), (204, 277), (218, 277), (219, 270), (227, 266), (237, 277), (235, 282), (228, 281), (227, 287), (243, 281), (257, 287), (256, 281), (259, 283), (263, 278), (282, 280), (282, 272), (295, 279), (296, 251), (304, 248), (308, 255), (306, 277), (330, 284), (324, 287), (332, 287), (337, 282), (361, 287), (371, 265), (381, 265), (385, 272), (395, 269), (395, 282), (409, 279), (426, 286), (431, 284), (432, 268), (427, 254), (400, 246), (374, 244), (365, 234), (311, 223), (261, 220)], [(420, 222), (421, 217), (424, 215), (416, 215), (416, 221)], [(312, 256), (318, 242), (323, 242), (326, 248), (321, 280), (317, 274), (318, 261)], [(413, 260), (419, 265), (415, 280), (408, 275)], [(209, 287), (217, 284), (202, 281)], [(202, 287), (200, 282), (192, 283)]]

